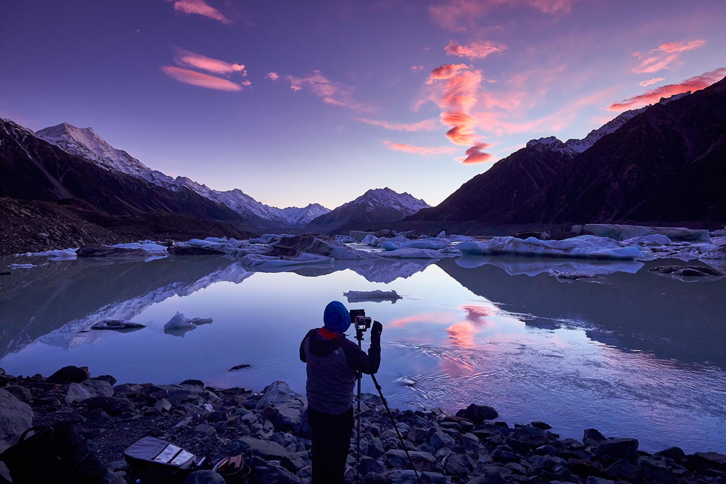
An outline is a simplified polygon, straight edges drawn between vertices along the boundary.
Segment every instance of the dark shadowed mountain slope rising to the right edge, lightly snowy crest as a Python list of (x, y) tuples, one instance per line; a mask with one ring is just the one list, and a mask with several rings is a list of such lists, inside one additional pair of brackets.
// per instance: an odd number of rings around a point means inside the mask
[(624, 112), (582, 140), (532, 140), (405, 221), (726, 221), (726, 79)]

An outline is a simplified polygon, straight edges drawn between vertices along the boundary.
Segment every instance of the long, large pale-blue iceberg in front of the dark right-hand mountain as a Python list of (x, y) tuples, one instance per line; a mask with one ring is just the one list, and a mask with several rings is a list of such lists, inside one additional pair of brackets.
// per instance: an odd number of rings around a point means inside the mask
[(586, 259), (633, 260), (644, 253), (636, 246), (624, 247), (607, 237), (582, 235), (565, 240), (540, 240), (534, 237), (494, 237), (484, 242), (460, 242), (457, 249), (465, 255), (524, 255)]

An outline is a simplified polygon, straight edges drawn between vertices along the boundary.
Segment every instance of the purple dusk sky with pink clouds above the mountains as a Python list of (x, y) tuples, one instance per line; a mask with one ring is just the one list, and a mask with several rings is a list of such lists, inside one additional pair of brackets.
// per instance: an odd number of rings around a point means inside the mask
[(285, 207), (431, 205), (542, 136), (726, 75), (723, 0), (28, 0), (0, 116)]

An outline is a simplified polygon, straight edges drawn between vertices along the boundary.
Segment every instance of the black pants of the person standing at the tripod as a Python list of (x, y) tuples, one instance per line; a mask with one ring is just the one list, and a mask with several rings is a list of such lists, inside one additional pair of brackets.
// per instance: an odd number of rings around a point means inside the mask
[(353, 432), (353, 407), (342, 414), (325, 414), (308, 407), (313, 434), (313, 484), (342, 484)]

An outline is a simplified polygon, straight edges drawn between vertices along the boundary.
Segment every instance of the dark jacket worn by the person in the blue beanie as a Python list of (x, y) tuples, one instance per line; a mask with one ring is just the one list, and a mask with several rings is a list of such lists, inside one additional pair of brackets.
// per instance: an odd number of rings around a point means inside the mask
[(311, 329), (300, 343), (300, 360), (307, 364), (308, 405), (326, 414), (342, 414), (353, 406), (356, 372), (378, 372), (380, 335), (371, 335), (366, 354), (346, 335), (327, 340), (317, 331)]

